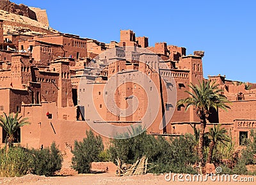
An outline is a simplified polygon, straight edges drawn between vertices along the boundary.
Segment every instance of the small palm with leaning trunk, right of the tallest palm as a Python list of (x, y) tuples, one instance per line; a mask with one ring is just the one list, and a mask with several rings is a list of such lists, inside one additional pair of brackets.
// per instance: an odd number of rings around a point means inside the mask
[(218, 124), (217, 126), (214, 125), (213, 128), (209, 128), (208, 133), (205, 133), (205, 135), (207, 135), (211, 139), (206, 163), (211, 163), (212, 152), (213, 152), (214, 147), (216, 146), (216, 144), (218, 144), (218, 142), (220, 142), (224, 145), (225, 145), (225, 142), (230, 142), (230, 138), (226, 134), (227, 129), (220, 128), (220, 127), (221, 127), (221, 124)]

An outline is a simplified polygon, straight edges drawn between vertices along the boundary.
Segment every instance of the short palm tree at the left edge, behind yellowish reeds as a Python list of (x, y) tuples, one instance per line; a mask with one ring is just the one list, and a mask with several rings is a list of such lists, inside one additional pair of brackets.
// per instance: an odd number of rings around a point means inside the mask
[(13, 117), (13, 114), (9, 114), (9, 116), (7, 116), (4, 113), (4, 117), (3, 115), (0, 116), (0, 126), (4, 129), (4, 131), (6, 131), (7, 135), (6, 135), (6, 144), (10, 146), (13, 145), (13, 142), (15, 140), (14, 138), (14, 134), (15, 132), (22, 126), (26, 125), (26, 124), (30, 124), (30, 122), (28, 122), (28, 117), (21, 119), (22, 116), (20, 116), (18, 118), (18, 114), (19, 112), (17, 112), (15, 114), (15, 117)]

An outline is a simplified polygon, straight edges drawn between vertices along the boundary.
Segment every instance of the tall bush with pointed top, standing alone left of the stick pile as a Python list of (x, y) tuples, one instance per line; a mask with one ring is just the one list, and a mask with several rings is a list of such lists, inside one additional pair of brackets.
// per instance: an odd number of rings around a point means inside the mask
[(90, 173), (93, 161), (99, 161), (100, 152), (104, 150), (102, 138), (94, 136), (92, 130), (86, 131), (86, 138), (83, 142), (75, 141), (72, 153), (72, 168), (77, 170), (79, 174)]

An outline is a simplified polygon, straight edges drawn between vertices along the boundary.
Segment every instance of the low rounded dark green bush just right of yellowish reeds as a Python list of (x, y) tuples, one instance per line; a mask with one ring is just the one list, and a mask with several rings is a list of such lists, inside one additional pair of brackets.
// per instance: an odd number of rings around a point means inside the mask
[(30, 151), (31, 172), (36, 175), (52, 176), (54, 172), (61, 169), (63, 157), (55, 142), (51, 148), (32, 149)]

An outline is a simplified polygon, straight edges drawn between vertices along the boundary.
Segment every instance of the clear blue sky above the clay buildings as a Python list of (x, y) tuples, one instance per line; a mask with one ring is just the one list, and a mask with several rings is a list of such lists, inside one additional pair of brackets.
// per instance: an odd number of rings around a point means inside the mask
[(120, 29), (147, 36), (149, 45), (165, 41), (204, 50), (204, 77), (256, 82), (256, 1), (84, 1), (11, 0), (47, 10), (50, 26), (102, 42), (120, 40)]

